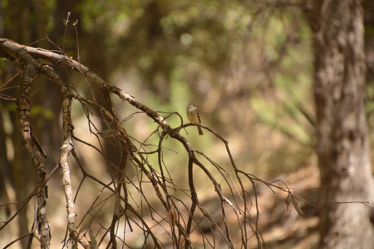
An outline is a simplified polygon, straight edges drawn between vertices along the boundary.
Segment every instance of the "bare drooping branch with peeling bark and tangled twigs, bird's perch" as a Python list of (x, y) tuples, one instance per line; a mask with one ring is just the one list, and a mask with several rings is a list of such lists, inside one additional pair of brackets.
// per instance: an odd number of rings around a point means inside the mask
[[(47, 221), (45, 186), (52, 173), (47, 175), (44, 162), (46, 155), (42, 145), (34, 136), (30, 124), (29, 99), (33, 81), (36, 77), (49, 79), (62, 98), (64, 141), (60, 148), (58, 166), (62, 171), (61, 182), (64, 187), (67, 207), (67, 234), (65, 237), (67, 248), (74, 248), (77, 243), (83, 248), (92, 248), (92, 246), (100, 245), (104, 242), (107, 243), (107, 248), (110, 245), (112, 248), (122, 247), (117, 245), (118, 243), (129, 246), (131, 242), (129, 242), (129, 235), (127, 234), (134, 233), (135, 230), (140, 231), (143, 235), (143, 248), (148, 246), (166, 248), (169, 244), (172, 244), (175, 248), (196, 248), (202, 244), (215, 248), (217, 240), (219, 241), (218, 243), (226, 243), (228, 248), (248, 248), (249, 245), (253, 246), (254, 243), (252, 241), (254, 240), (258, 248), (263, 248), (264, 242), (258, 229), (260, 212), (255, 181), (265, 184), (273, 193), (275, 193), (273, 188), (288, 192), (289, 198), (292, 197), (292, 202), (297, 197), (291, 193), (287, 186), (280, 187), (274, 183), (266, 183), (254, 175), (239, 170), (234, 163), (228, 142), (213, 129), (201, 124), (184, 124), (182, 116), (177, 112), (170, 113), (165, 118), (162, 117), (160, 115), (162, 112), (154, 111), (126, 91), (102, 80), (89, 68), (65, 55), (62, 50), (44, 50), (23, 46), (0, 38), (0, 54), (9, 60), (16, 59), (21, 62), (19, 66), (19, 72), (22, 74), (20, 94), (16, 100), (20, 120), (19, 132), (22, 138), (22, 145), (33, 159), (37, 175), (37, 187), (20, 208), (22, 209), (31, 200), (32, 196), (35, 196), (33, 227), (30, 233), (25, 235), (29, 236), (30, 245), (32, 239), (37, 238), (42, 248), (49, 248), (51, 237), (50, 224)], [(106, 107), (96, 102), (95, 99), (91, 100), (78, 94), (74, 85), (69, 86), (61, 79), (60, 75), (53, 69), (53, 64), (40, 62), (37, 59), (46, 59), (57, 65), (65, 66), (67, 69), (79, 72), (86, 81), (90, 80), (95, 83), (101, 90)], [(110, 93), (134, 106), (138, 112), (145, 113), (148, 118), (156, 123), (152, 133), (159, 134), (156, 150), (149, 151), (145, 149), (146, 142), (152, 134), (143, 142), (138, 142), (135, 138), (129, 136), (125, 128), (122, 127), (124, 121), (120, 121), (118, 118)], [(74, 110), (72, 105), (74, 101), (79, 102), (85, 111), (90, 132), (92, 136), (96, 136), (99, 147), (79, 138), (79, 134), (77, 136), (73, 134), (74, 121), (72, 112)], [(180, 118), (181, 125), (179, 127), (172, 128), (166, 121), (172, 115), (177, 115)], [(98, 123), (93, 121), (90, 116), (96, 116), (108, 129), (105, 132), (100, 132), (96, 128)], [(181, 129), (191, 125), (204, 128), (214, 134), (224, 144), (234, 175), (223, 169), (203, 152), (197, 151), (191, 146), (187, 138), (180, 133)], [(177, 180), (171, 177), (168, 167), (164, 163), (163, 150), (165, 148), (163, 141), (166, 136), (182, 144), (188, 154), (188, 189), (178, 185)], [(104, 142), (110, 143), (122, 151), (119, 164), (116, 165), (110, 162), (104, 152), (102, 144)], [(95, 149), (104, 158), (110, 172), (111, 180), (109, 183), (105, 183), (100, 180), (100, 177), (87, 171), (88, 165), (85, 165), (76, 151), (74, 146), (76, 143)], [(136, 145), (137, 143), (138, 145)], [(152, 165), (148, 161), (147, 156), (151, 154), (157, 154), (157, 165)], [(68, 162), (69, 155), (73, 156), (74, 161), (83, 174), (75, 196), (71, 181), (71, 172), (73, 170), (71, 169), (71, 163)], [(216, 177), (212, 175), (206, 165), (196, 155), (202, 155), (209, 164), (214, 166), (221, 175), (223, 182), (217, 181)], [(209, 180), (214, 187), (215, 196), (213, 198), (220, 202), (220, 215), (218, 216), (213, 215), (213, 212), (199, 200), (199, 194), (195, 189), (196, 184), (199, 183), (194, 180), (194, 167), (196, 166), (202, 170), (207, 181)], [(56, 170), (57, 168), (53, 172)], [(134, 178), (131, 178), (130, 171), (137, 172)], [(247, 190), (249, 184), (248, 182), (244, 183), (242, 176), (250, 182), (250, 186), (253, 188), (254, 205)], [(82, 220), (77, 222), (75, 201), (80, 192), (80, 187), (87, 179), (91, 179), (95, 184), (101, 186), (101, 190)], [(149, 184), (152, 188), (149, 187)], [(99, 201), (99, 197), (103, 192), (110, 194), (104, 200)], [(295, 203), (295, 208), (297, 209), (297, 200), (295, 200)], [(101, 211), (95, 211), (97, 210), (96, 208), (101, 210), (108, 205), (113, 206), (112, 219), (109, 223), (99, 217), (98, 214)], [(254, 206), (255, 211), (252, 210), (252, 206)], [(217, 210), (214, 211), (217, 212)], [(86, 222), (85, 218), (88, 218), (88, 222)], [(5, 222), (0, 230), (9, 224), (12, 219)], [(208, 229), (203, 227), (203, 221), (208, 224)], [(80, 229), (78, 230), (79, 227)], [(40, 236), (37, 236), (36, 228)], [(96, 231), (96, 235), (93, 230)], [(86, 232), (89, 232), (89, 239), (86, 237)], [(122, 236), (120, 235), (121, 233), (123, 233)], [(96, 239), (100, 239), (99, 243), (96, 242)]]

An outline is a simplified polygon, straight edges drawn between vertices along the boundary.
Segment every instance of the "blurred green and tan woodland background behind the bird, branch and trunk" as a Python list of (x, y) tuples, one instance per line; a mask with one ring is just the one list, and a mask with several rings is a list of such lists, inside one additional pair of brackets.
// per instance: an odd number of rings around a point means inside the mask
[[(313, 31), (306, 18), (310, 1), (2, 0), (0, 4), (0, 37), (23, 45), (56, 49), (43, 39), (46, 31), (48, 38), (64, 47), (67, 55), (73, 59), (79, 56), (80, 62), (102, 79), (155, 111), (177, 111), (186, 122), (187, 105), (200, 105), (202, 124), (229, 141), (236, 165), (243, 171), (269, 182), (282, 179), (289, 187), (319, 187), (314, 152)], [(365, 110), (370, 130), (370, 159), (374, 165), (374, 4), (367, 0), (363, 5), (367, 65)], [(68, 12), (71, 12), (70, 25), (65, 30), (62, 20), (67, 19)], [(77, 34), (71, 25), (76, 20)], [(73, 82), (80, 94), (92, 96), (81, 75), (68, 75), (62, 67), (55, 70), (65, 82)], [(1, 63), (1, 85), (15, 73), (9, 63)], [(18, 85), (18, 80), (19, 77), (7, 87)], [(48, 156), (49, 172), (57, 163), (63, 139), (61, 96), (42, 78), (36, 79), (34, 89), (38, 90), (31, 98), (31, 120), (34, 133)], [(4, 97), (16, 97), (19, 91), (16, 87), (0, 90)], [(94, 89), (93, 94), (100, 93)], [(120, 100), (115, 104), (122, 119), (137, 112)], [(79, 103), (75, 105), (75, 136), (97, 143), (95, 138), (90, 140), (86, 116), (79, 109)], [(33, 168), (28, 166), (30, 157), (24, 148), (18, 147), (19, 121), (15, 110), (13, 100), (0, 99), (0, 172), (3, 176), (0, 205), (25, 199), (35, 183)], [(144, 141), (154, 131), (154, 122), (142, 113), (134, 117), (124, 127), (137, 140)], [(172, 128), (180, 125), (175, 116), (167, 121)], [(191, 144), (230, 171), (224, 145), (217, 143), (208, 132), (198, 136), (196, 128), (188, 128), (188, 135), (184, 130), (181, 133)], [(157, 145), (157, 141), (156, 136), (147, 143)], [(164, 151), (168, 170), (175, 172), (175, 178), (186, 179), (187, 156), (183, 148), (172, 139), (165, 140), (164, 146), (179, 152)], [(109, 181), (102, 158), (86, 147), (81, 149), (88, 168)], [(118, 164), (120, 150), (108, 146), (105, 151)], [(150, 156), (149, 160), (157, 162), (156, 157)], [(73, 188), (77, 189), (82, 175), (77, 166), (72, 166), (71, 171)], [(209, 206), (214, 190), (213, 193), (206, 191), (205, 179), (199, 175), (195, 181), (202, 182), (197, 189), (199, 199)], [(49, 222), (54, 224), (51, 247), (59, 248), (66, 230), (61, 176), (55, 174), (48, 185)], [(77, 220), (100, 191), (100, 187), (89, 184), (82, 188), (84, 196), (77, 200)], [(317, 208), (300, 203), (305, 213), (303, 218), (294, 209), (286, 212), (286, 193), (273, 195), (266, 186), (259, 184), (259, 188), (262, 215), (259, 222), (267, 248), (317, 248)], [(309, 202), (317, 200), (317, 190), (295, 193)], [(15, 209), (16, 206), (1, 207), (1, 221), (7, 220)], [(23, 218), (18, 219), (18, 225), (14, 224), (12, 230), (0, 231), (0, 247), (29, 231), (33, 205), (21, 215)], [(105, 217), (105, 210), (101, 215)], [(18, 242), (11, 248), (25, 248), (24, 245)], [(139, 245), (142, 242), (134, 239), (133, 248)]]

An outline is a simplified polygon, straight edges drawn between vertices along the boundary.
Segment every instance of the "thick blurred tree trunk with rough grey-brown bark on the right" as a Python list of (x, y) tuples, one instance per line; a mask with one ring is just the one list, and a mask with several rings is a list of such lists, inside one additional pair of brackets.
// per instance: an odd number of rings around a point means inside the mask
[[(359, 0), (313, 2), (315, 102), (321, 202), (369, 201), (374, 181), (364, 110), (363, 9)], [(374, 248), (371, 209), (362, 203), (322, 205), (321, 248)]]

